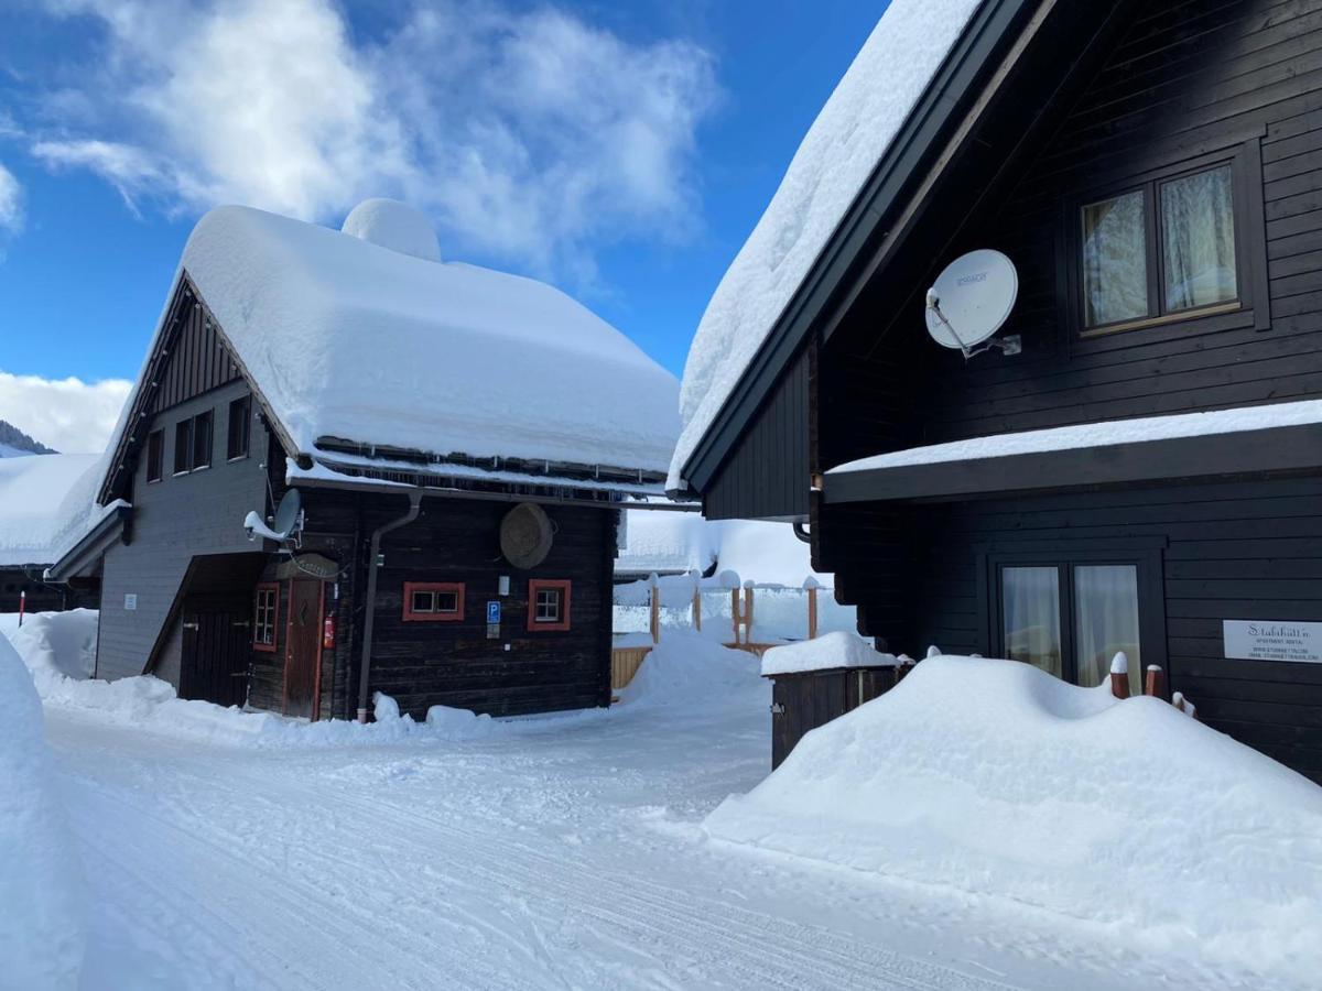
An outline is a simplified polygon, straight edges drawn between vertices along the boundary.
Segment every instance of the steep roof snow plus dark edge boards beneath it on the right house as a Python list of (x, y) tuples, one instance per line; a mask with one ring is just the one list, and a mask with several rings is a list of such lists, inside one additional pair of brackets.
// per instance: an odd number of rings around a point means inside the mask
[[(857, 250), (919, 166), (1027, 0), (892, 0), (804, 137), (776, 196), (713, 295), (685, 365), (683, 429), (668, 486), (713, 435), (738, 433)], [(754, 379), (756, 379), (754, 382)], [(748, 392), (748, 395), (743, 395)]]

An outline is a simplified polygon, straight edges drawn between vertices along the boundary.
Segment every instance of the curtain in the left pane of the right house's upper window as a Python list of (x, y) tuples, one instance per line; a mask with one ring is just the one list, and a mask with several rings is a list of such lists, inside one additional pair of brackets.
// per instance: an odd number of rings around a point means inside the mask
[(1083, 207), (1088, 326), (1147, 316), (1147, 222), (1142, 190)]

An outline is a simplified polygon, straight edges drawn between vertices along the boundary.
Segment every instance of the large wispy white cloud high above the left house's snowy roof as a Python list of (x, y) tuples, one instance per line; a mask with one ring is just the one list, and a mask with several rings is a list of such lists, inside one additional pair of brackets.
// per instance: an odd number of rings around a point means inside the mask
[(79, 94), (95, 112), (45, 122), (33, 151), (131, 205), (327, 221), (397, 196), (452, 258), (586, 277), (604, 243), (691, 233), (709, 54), (509, 3), (418, 3), (365, 40), (332, 0), (48, 0), (100, 21), (107, 67)]

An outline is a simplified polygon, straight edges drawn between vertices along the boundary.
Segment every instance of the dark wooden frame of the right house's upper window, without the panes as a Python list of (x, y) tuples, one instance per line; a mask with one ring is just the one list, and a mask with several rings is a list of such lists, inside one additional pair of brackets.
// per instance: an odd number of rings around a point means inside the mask
[[(1210, 172), (1222, 165), (1231, 169), (1235, 222), (1235, 275), (1237, 297), (1191, 309), (1165, 309), (1165, 252), (1162, 250), (1161, 188), (1171, 181)], [(1218, 148), (1185, 148), (1162, 153), (1124, 169), (1093, 174), (1079, 194), (1062, 201), (1062, 267), (1066, 291), (1062, 293), (1063, 320), (1072, 350), (1104, 348), (1107, 338), (1121, 333), (1149, 332), (1145, 337), (1187, 334), (1191, 324), (1208, 329), (1272, 325), (1266, 270), (1266, 219), (1263, 190), (1260, 135), (1231, 141)], [(1145, 207), (1145, 250), (1147, 252), (1147, 316), (1088, 326), (1084, 299), (1083, 210), (1100, 201), (1141, 190)], [(1133, 344), (1130, 341), (1129, 344)]]

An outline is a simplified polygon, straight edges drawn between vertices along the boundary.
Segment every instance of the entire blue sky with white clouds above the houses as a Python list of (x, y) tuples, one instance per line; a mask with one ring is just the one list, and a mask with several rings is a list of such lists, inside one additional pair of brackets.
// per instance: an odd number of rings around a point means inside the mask
[[(28, 411), (19, 425), (57, 447), (95, 433), (45, 408), (71, 410), (71, 391), (15, 377), (132, 378), (188, 231), (217, 202), (338, 225), (366, 196), (407, 200), (447, 258), (561, 285), (678, 375), (883, 8), (5, 4), (0, 419)], [(103, 391), (98, 423), (115, 406)]]

